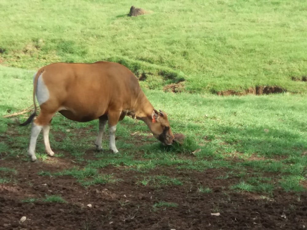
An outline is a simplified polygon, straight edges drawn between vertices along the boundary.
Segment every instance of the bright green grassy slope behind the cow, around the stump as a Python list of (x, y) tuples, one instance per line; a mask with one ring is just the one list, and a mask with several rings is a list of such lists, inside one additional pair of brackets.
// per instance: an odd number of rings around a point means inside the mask
[[(190, 92), (278, 85), (305, 91), (291, 76), (307, 73), (307, 2), (137, 1), (152, 13), (125, 17), (129, 1), (1, 1), (4, 64), (35, 69), (56, 62), (113, 60), (164, 71)], [(171, 81), (168, 81), (171, 82)], [(167, 83), (167, 82), (166, 82)], [(165, 82), (163, 84), (166, 84)]]

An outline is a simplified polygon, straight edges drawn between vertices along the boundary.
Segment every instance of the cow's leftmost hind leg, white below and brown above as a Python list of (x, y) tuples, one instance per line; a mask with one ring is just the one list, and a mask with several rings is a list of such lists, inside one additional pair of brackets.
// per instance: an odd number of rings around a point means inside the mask
[[(29, 144), (29, 150), (28, 150), (32, 161), (35, 161), (37, 159), (35, 156), (35, 147), (36, 147), (37, 137), (39, 133), (41, 132), (41, 130), (43, 129), (44, 130), (43, 131), (44, 140), (45, 140), (46, 133), (49, 134), (49, 128), (43, 128), (43, 127), (49, 124), (49, 121), (51, 121), (51, 118), (53, 115), (54, 113), (46, 113), (44, 111), (41, 111), (38, 117), (32, 123), (31, 138), (30, 138), (30, 144)], [(49, 143), (49, 138), (48, 138), (48, 143)], [(49, 145), (49, 148), (50, 148), (50, 145)]]

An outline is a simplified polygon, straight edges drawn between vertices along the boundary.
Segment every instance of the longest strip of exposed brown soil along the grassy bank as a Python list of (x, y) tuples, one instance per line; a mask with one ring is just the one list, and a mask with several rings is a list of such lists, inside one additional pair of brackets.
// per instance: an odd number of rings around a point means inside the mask
[(249, 89), (246, 89), (242, 92), (238, 92), (235, 90), (214, 91), (214, 93), (219, 96), (230, 96), (230, 95), (243, 96), (247, 94), (254, 94), (254, 95), (281, 94), (284, 92), (287, 92), (287, 90), (279, 86), (255, 86), (255, 88), (250, 87)]

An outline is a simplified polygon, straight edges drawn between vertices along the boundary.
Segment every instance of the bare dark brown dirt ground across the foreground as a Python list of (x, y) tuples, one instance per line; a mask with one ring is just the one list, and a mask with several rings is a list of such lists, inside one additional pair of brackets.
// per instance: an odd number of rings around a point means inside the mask
[[(215, 179), (226, 173), (224, 169), (195, 172), (158, 167), (142, 174), (108, 166), (100, 172), (113, 173), (122, 181), (89, 188), (69, 176), (37, 174), (73, 166), (76, 163), (69, 156), (36, 163), (13, 158), (0, 161), (0, 167), (18, 172), (11, 175), (14, 183), (0, 184), (0, 229), (305, 229), (307, 225), (306, 194), (298, 199), (294, 193), (275, 190), (273, 198), (263, 199), (255, 193), (235, 193), (228, 188), (236, 178)], [(161, 174), (185, 183), (160, 187), (138, 183), (144, 176)], [(200, 185), (212, 192), (200, 193)], [(68, 203), (21, 202), (45, 194), (60, 195)], [(160, 201), (178, 206), (154, 208)], [(19, 222), (22, 216), (27, 219)]]

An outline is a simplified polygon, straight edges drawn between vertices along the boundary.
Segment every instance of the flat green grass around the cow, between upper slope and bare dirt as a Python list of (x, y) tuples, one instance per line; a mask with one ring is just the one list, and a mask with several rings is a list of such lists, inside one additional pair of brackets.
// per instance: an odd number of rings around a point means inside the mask
[[(7, 82), (0, 94), (1, 115), (6, 114), (8, 109), (15, 112), (31, 105), (32, 85), (28, 75), (31, 76), (32, 72), (10, 67), (1, 67), (1, 70), (0, 77)], [(125, 118), (118, 125), (116, 135), (119, 136), (117, 145), (122, 153), (119, 158), (105, 155), (103, 159), (88, 162), (88, 167), (104, 167), (110, 162), (116, 166), (124, 162), (140, 170), (153, 169), (158, 165), (175, 165), (178, 169), (198, 171), (208, 167), (227, 167), (229, 170), (236, 168), (237, 171), (245, 172), (246, 168), (251, 168), (256, 173), (255, 176), (249, 175), (252, 178), (262, 177), (266, 172), (276, 173), (275, 187), (281, 186), (284, 180), (296, 180), (297, 184), (305, 181), (307, 158), (301, 156), (307, 149), (304, 95), (285, 93), (225, 98), (210, 94), (171, 94), (157, 90), (145, 90), (145, 93), (155, 108), (169, 113), (173, 132), (184, 133), (188, 137), (186, 143), (165, 150), (152, 136), (148, 136), (144, 123)], [(20, 119), (24, 120), (25, 117), (21, 116)], [(30, 127), (14, 126), (12, 136), (6, 131), (10, 130), (8, 126), (14, 121), (4, 118), (1, 121), (2, 136), (8, 142), (2, 141), (0, 152), (6, 157), (24, 156)], [(80, 155), (82, 160), (84, 152), (93, 148), (97, 126), (97, 121), (76, 123), (56, 116), (52, 121), (51, 145), (59, 149), (60, 153), (65, 151)], [(72, 132), (67, 133), (67, 129)], [(77, 131), (79, 129), (83, 131)], [(61, 137), (58, 133), (61, 132), (66, 137), (58, 142), (56, 140)], [(141, 140), (134, 140), (133, 133), (138, 133)], [(84, 135), (87, 138), (84, 139)], [(133, 144), (134, 141), (138, 143), (142, 140), (146, 141), (138, 147)], [(108, 148), (107, 140), (104, 148)], [(198, 148), (201, 151), (193, 155), (192, 151)], [(37, 151), (42, 154), (44, 146), (38, 144)], [(134, 159), (133, 155), (140, 152), (144, 159)], [(193, 159), (190, 159), (191, 156)], [(233, 158), (243, 161), (232, 161)], [(246, 175), (243, 173), (243, 177)]]

